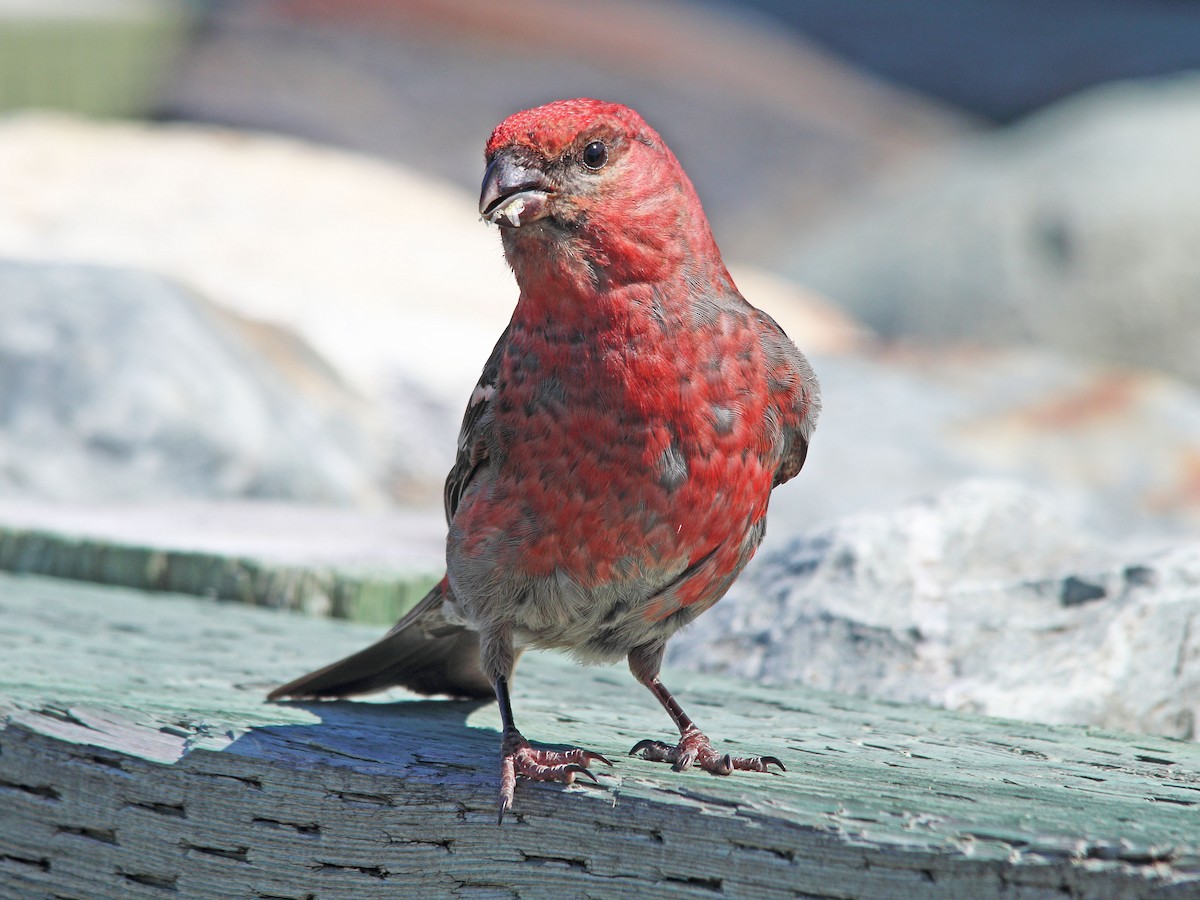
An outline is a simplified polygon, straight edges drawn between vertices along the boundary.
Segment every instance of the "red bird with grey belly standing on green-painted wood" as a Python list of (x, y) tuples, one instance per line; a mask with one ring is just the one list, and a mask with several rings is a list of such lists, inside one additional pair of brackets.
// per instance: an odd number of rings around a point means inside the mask
[(662, 682), (662, 650), (754, 556), (770, 491), (820, 410), (808, 361), (730, 278), (700, 199), (628, 107), (566, 100), (487, 142), (479, 209), (521, 298), (472, 392), (445, 484), (446, 576), (379, 642), (274, 691), (402, 685), (496, 695), (500, 810), (516, 776), (571, 782), (588, 750), (534, 748), (509, 682), (524, 648), (628, 658), (679, 728), (630, 752), (727, 775)]

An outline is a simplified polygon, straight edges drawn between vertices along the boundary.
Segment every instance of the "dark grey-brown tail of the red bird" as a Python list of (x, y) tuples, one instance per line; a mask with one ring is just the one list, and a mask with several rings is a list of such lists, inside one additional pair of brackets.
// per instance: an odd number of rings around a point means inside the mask
[(418, 694), (493, 696), (479, 664), (479, 635), (442, 614), (449, 592), (443, 578), (373, 644), (276, 688), (266, 698), (350, 697), (396, 686)]

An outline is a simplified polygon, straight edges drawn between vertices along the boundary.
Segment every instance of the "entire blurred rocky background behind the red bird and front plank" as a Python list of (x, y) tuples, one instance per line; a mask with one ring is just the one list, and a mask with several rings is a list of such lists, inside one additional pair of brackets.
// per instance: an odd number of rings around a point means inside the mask
[(5, 533), (436, 574), (481, 148), (581, 95), (824, 388), (672, 661), (1194, 737), (1192, 4), (0, 0)]

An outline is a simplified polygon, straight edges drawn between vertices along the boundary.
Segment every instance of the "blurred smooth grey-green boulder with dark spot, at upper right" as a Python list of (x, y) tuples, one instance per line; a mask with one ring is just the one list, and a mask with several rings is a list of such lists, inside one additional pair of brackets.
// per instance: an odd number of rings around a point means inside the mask
[(968, 143), (781, 260), (887, 337), (1038, 342), (1200, 382), (1200, 76)]

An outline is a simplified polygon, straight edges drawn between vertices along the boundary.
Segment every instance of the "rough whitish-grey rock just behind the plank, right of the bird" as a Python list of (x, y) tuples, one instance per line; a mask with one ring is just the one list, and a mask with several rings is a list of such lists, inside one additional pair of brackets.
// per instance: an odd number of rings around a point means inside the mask
[(1200, 544), (1115, 550), (1051, 494), (966, 481), (793, 539), (673, 642), (670, 661), (1194, 738)]

